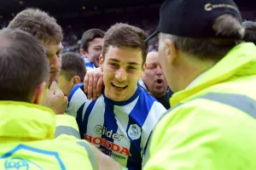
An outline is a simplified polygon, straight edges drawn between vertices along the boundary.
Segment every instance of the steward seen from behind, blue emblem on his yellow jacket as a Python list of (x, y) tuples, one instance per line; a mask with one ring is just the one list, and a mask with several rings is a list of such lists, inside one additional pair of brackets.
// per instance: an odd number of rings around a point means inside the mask
[[(0, 169), (98, 169), (90, 144), (55, 133), (56, 122), (71, 116), (55, 117), (41, 105), (49, 80), (42, 42), (24, 31), (0, 31), (0, 72)], [(73, 127), (67, 132), (77, 132)]]

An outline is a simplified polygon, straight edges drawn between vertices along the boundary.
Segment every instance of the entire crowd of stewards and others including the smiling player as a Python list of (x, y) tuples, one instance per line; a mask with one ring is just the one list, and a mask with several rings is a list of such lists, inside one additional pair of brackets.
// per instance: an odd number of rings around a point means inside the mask
[(115, 23), (63, 53), (55, 18), (20, 11), (0, 31), (1, 166), (256, 169), (255, 35), (233, 0), (166, 0), (152, 35)]

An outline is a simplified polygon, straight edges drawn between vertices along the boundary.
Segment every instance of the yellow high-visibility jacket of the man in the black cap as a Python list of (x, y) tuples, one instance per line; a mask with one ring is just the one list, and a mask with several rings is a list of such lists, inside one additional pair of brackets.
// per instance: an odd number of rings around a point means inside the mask
[(256, 169), (256, 47), (231, 49), (170, 99), (148, 144), (144, 170)]

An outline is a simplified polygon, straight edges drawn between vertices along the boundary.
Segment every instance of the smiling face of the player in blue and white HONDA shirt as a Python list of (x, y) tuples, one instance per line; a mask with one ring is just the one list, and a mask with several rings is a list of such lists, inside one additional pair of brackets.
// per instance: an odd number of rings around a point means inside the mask
[(130, 99), (143, 75), (142, 50), (109, 47), (105, 59), (100, 59), (105, 84), (105, 95), (114, 101)]

